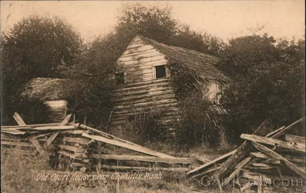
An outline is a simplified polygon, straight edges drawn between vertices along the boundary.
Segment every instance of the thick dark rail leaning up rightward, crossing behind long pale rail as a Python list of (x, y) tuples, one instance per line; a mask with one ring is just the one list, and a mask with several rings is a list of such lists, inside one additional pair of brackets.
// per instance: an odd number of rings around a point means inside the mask
[[(270, 131), (268, 120), (265, 120), (259, 128), (253, 132), (254, 135), (265, 136)], [(253, 150), (252, 144), (250, 141), (244, 141), (242, 145), (237, 149), (237, 151), (228, 158), (222, 165), (221, 169), (218, 173), (216, 173), (213, 177), (223, 179), (224, 175), (232, 170), (233, 167), (241, 160), (243, 160), (249, 152)]]

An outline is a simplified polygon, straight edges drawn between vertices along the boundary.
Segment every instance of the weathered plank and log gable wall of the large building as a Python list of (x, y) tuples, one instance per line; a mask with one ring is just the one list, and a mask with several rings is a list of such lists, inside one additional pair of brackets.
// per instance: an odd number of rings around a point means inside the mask
[(160, 126), (168, 132), (173, 129), (177, 119), (175, 94), (168, 77), (155, 79), (154, 74), (154, 66), (167, 64), (164, 55), (135, 37), (117, 62), (126, 73), (126, 84), (117, 85), (114, 91), (110, 126), (124, 125), (130, 115), (149, 110), (162, 111)]

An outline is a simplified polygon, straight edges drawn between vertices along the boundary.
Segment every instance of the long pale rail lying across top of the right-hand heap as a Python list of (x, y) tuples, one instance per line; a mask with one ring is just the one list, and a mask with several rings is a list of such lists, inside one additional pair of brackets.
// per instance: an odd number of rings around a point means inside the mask
[(287, 148), (290, 150), (306, 152), (305, 143), (302, 144), (302, 143), (296, 143), (296, 142), (287, 142), (287, 141), (282, 141), (279, 139), (273, 139), (273, 138), (262, 137), (262, 136), (257, 136), (257, 135), (249, 135), (249, 134), (241, 134), (240, 137), (242, 139), (246, 139), (250, 141), (256, 141), (260, 143), (270, 144), (272, 146), (280, 146), (280, 147)]

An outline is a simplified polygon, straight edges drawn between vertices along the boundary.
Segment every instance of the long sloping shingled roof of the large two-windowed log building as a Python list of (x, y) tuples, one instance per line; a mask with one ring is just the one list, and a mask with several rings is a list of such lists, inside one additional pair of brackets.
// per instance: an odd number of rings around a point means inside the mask
[(220, 82), (222, 84), (227, 84), (230, 81), (228, 77), (214, 66), (219, 61), (215, 56), (185, 49), (183, 47), (166, 45), (140, 35), (137, 35), (137, 37), (155, 47), (156, 50), (166, 56), (168, 61), (177, 61), (190, 69), (194, 69), (197, 75), (205, 82)]

